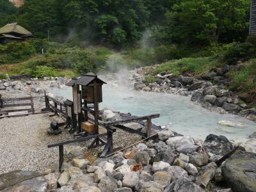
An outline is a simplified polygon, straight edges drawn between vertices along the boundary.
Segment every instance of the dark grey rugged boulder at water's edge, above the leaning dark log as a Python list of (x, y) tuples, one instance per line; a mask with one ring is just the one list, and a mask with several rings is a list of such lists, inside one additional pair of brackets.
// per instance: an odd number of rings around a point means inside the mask
[(203, 147), (206, 152), (210, 152), (215, 155), (225, 155), (233, 146), (225, 136), (216, 136), (215, 134), (209, 134), (203, 143)]

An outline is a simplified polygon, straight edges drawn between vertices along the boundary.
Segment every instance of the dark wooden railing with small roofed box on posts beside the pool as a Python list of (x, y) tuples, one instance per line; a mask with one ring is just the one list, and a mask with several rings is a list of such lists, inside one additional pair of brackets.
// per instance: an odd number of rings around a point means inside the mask
[[(116, 132), (116, 129), (122, 129), (123, 131), (131, 132), (132, 134), (138, 134), (143, 138), (147, 138), (151, 135), (152, 128), (161, 130), (161, 127), (152, 124), (152, 118), (158, 118), (160, 116), (159, 114), (132, 116), (130, 113), (120, 113), (122, 120), (103, 122), (99, 116), (99, 102), (102, 102), (102, 84), (105, 84), (105, 82), (100, 80), (97, 76), (92, 75), (75, 78), (68, 82), (66, 85), (72, 87), (73, 102), (70, 100), (68, 100), (68, 102), (64, 102), (65, 113), (58, 108), (58, 103), (54, 103), (54, 106), (49, 104), (49, 99), (52, 100), (52, 98), (45, 95), (46, 108), (51, 108), (55, 113), (61, 113), (65, 116), (67, 118), (67, 122), (71, 122), (70, 124), (72, 124), (70, 131), (76, 131), (76, 134), (74, 134), (75, 138), (73, 140), (48, 145), (49, 148), (59, 147), (60, 171), (63, 163), (63, 145), (93, 140), (88, 148), (104, 146), (104, 149), (100, 154), (100, 157), (104, 157), (114, 151), (113, 134)], [(89, 104), (91, 104), (91, 106), (89, 106)], [(69, 112), (69, 115), (68, 106), (72, 110), (72, 113)], [(93, 133), (82, 131), (81, 126), (84, 121), (94, 122), (95, 130)], [(125, 124), (130, 122), (138, 122), (143, 125), (143, 127), (146, 127), (146, 132), (141, 132), (140, 130), (135, 130), (131, 127), (125, 126)], [(99, 133), (99, 126), (106, 129), (106, 132)]]

